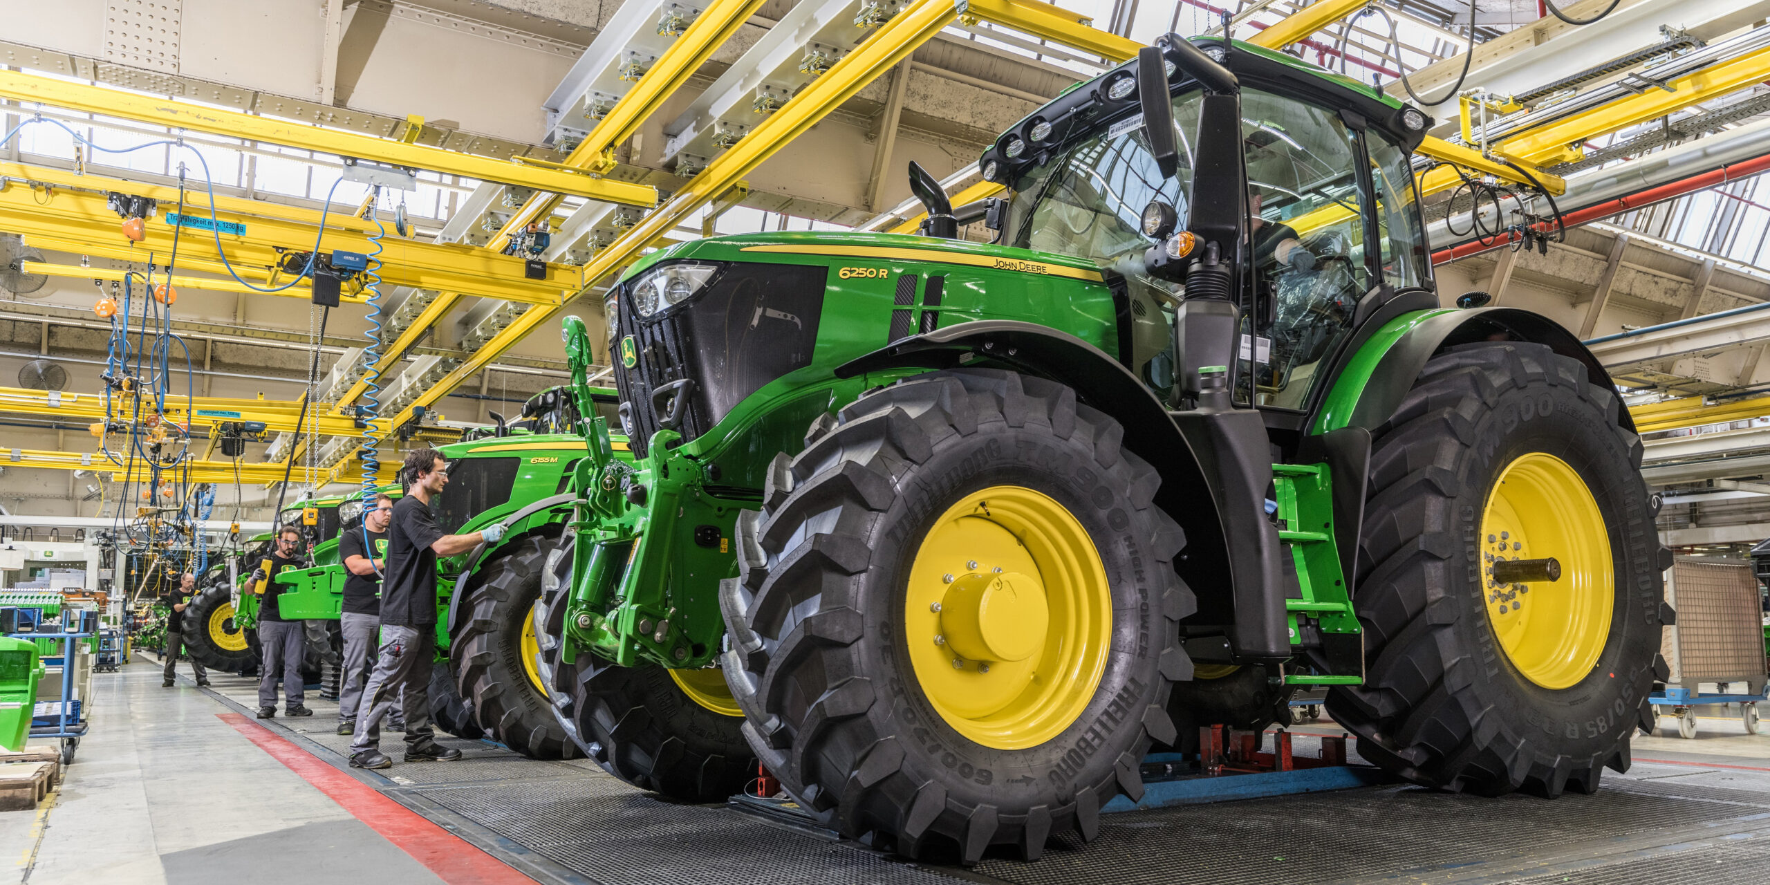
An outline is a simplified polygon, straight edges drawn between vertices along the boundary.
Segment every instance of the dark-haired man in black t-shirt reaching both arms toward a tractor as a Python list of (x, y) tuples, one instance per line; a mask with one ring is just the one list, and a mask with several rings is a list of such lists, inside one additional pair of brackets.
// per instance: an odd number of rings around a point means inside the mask
[[(411, 451), (400, 467), (405, 497), (393, 504), (388, 526), (388, 570), (381, 582), (381, 655), (358, 706), (350, 740), (352, 768), (393, 765), (381, 754), (381, 719), (400, 699), (405, 708), (405, 761), (453, 761), (430, 731), (430, 664), (437, 646), (437, 556), (458, 556), (481, 543), (497, 543), (504, 526), (467, 535), (444, 535), (430, 501), (448, 485), (448, 462), (434, 448)], [(404, 697), (402, 697), (404, 692)]]

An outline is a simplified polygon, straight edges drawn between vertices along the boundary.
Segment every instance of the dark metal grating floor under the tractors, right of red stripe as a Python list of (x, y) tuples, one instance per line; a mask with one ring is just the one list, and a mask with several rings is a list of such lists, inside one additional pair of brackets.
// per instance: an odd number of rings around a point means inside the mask
[[(250, 708), (250, 680), (216, 680)], [(264, 722), (343, 765), (336, 706)], [(542, 763), (442, 738), (450, 765), (354, 772), (540, 880), (600, 885), (1012, 883), (1012, 885), (1705, 885), (1770, 880), (1770, 765), (1637, 763), (1597, 795), (1554, 802), (1381, 786), (1340, 793), (1108, 814), (1101, 835), (1051, 839), (1025, 864), (998, 850), (972, 869), (912, 864), (724, 805), (678, 805), (588, 759)], [(1299, 735), (1299, 742), (1303, 736)], [(398, 759), (400, 735), (382, 749)], [(1299, 743), (1301, 747), (1301, 743)], [(1736, 759), (1747, 763), (1747, 759)], [(1706, 763), (1705, 763), (1706, 765)], [(1726, 770), (1722, 770), (1726, 768)]]

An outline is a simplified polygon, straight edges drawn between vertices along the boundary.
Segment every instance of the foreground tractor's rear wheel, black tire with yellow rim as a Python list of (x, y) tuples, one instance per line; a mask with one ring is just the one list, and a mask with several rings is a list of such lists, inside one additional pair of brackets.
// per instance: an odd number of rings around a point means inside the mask
[[(1416, 782), (1558, 796), (1628, 768), (1664, 678), (1666, 565), (1616, 393), (1538, 343), (1427, 363), (1375, 430), (1358, 591), (1361, 687), (1328, 696), (1358, 752)], [(1504, 547), (1504, 550), (1501, 550)], [(1496, 561), (1554, 558), (1554, 582)]]

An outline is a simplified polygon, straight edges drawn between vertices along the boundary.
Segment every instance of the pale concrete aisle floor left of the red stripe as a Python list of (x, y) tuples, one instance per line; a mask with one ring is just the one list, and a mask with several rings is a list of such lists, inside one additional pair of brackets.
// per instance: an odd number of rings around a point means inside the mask
[(0, 881), (442, 881), (221, 719), (234, 710), (179, 669), (173, 689), (140, 657), (94, 674), (92, 731), (55, 804), (0, 812), (12, 866)]

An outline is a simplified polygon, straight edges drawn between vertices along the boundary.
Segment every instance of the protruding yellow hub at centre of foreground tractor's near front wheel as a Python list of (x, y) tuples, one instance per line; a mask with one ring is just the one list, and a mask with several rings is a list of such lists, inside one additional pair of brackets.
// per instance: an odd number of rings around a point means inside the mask
[(1021, 572), (961, 575), (940, 600), (942, 635), (954, 655), (977, 662), (1030, 658), (1050, 623), (1044, 584)]

